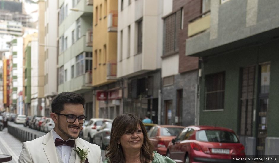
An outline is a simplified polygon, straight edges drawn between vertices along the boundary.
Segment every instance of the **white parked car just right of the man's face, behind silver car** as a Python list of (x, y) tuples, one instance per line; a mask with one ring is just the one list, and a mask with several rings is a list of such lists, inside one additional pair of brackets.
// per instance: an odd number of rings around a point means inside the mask
[(86, 126), (83, 127), (83, 139), (87, 140), (90, 143), (93, 143), (94, 134), (97, 132), (97, 129), (104, 122), (112, 122), (112, 119), (105, 118), (91, 118)]

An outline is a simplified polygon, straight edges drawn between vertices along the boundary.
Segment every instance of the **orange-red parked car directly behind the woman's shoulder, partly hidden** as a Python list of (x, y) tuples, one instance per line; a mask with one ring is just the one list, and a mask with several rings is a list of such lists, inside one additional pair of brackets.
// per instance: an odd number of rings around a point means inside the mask
[(184, 128), (184, 126), (156, 125), (149, 130), (148, 138), (153, 143), (154, 150), (166, 156), (169, 142)]

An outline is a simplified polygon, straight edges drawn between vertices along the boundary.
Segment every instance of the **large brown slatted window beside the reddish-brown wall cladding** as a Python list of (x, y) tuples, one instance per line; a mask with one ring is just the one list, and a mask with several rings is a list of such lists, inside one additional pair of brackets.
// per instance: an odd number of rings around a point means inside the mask
[(179, 31), (183, 27), (181, 12), (183, 9), (164, 19), (163, 55), (178, 52)]

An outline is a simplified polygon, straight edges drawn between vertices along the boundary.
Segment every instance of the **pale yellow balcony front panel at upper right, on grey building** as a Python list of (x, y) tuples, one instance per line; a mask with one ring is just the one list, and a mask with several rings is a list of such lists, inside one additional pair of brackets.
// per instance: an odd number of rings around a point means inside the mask
[(189, 21), (188, 37), (202, 33), (210, 28), (210, 10)]

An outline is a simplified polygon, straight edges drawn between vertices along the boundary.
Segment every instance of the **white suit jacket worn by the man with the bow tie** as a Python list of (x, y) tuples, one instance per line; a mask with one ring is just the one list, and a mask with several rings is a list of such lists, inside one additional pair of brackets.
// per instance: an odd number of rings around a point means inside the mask
[[(77, 138), (75, 139), (75, 146), (81, 149), (89, 148), (90, 152), (87, 157), (89, 163), (102, 163), (101, 149), (96, 144), (91, 144), (81, 138)], [(72, 152), (75, 151), (73, 150)], [(24, 142), (18, 163), (58, 163), (51, 131), (40, 138)], [(80, 163), (80, 157), (77, 153), (75, 163)]]

